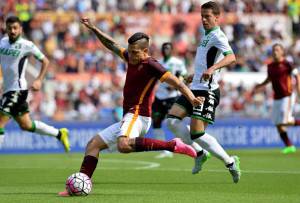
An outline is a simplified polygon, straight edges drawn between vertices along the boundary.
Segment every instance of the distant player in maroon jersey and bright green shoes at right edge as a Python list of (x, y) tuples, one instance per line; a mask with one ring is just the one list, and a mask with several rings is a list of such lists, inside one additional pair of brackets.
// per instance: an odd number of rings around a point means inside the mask
[(296, 152), (296, 147), (289, 139), (286, 126), (300, 125), (300, 119), (293, 117), (295, 105), (295, 94), (293, 92), (292, 77), (295, 77), (297, 92), (300, 94), (300, 76), (298, 69), (294, 68), (286, 59), (284, 48), (281, 44), (274, 44), (272, 47), (273, 62), (268, 65), (267, 78), (254, 87), (256, 92), (259, 88), (272, 83), (274, 102), (272, 108), (272, 120), (277, 131), (285, 144), (283, 154)]

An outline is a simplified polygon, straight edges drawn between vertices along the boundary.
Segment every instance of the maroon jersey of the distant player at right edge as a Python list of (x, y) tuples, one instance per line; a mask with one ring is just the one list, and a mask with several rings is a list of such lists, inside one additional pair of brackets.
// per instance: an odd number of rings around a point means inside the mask
[(272, 82), (274, 99), (281, 99), (292, 94), (292, 70), (293, 67), (286, 60), (268, 65), (268, 77)]

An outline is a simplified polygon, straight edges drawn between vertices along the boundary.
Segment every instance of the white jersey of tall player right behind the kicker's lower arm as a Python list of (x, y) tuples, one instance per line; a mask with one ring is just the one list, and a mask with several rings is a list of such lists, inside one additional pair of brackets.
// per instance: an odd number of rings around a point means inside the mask
[(191, 84), (192, 90), (215, 90), (219, 87), (220, 69), (215, 71), (209, 81), (200, 81), (202, 74), (212, 65), (218, 63), (233, 51), (229, 45), (228, 39), (220, 29), (215, 27), (206, 31), (201, 39), (200, 46), (197, 48), (194, 62), (195, 74)]

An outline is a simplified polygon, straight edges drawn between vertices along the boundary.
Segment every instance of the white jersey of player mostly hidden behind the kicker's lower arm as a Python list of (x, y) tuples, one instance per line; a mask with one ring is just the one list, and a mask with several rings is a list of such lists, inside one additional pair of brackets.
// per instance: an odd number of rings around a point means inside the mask
[[(185, 64), (179, 58), (171, 56), (167, 61), (164, 62), (162, 59), (159, 62), (166, 70), (171, 72), (173, 75), (180, 76), (180, 75), (187, 74)], [(170, 85), (168, 85), (167, 83), (160, 83), (156, 91), (155, 97), (157, 97), (160, 100), (163, 100), (163, 99), (174, 98), (180, 95), (179, 91), (169, 90), (169, 88)]]

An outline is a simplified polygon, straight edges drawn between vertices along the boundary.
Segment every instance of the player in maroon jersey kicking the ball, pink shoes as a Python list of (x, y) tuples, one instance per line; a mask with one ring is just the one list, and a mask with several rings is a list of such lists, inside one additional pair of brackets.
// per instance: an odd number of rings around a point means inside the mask
[[(196, 157), (195, 150), (178, 138), (166, 142), (143, 137), (151, 125), (151, 105), (154, 99), (154, 87), (158, 80), (176, 87), (193, 106), (203, 102), (201, 98), (196, 98), (176, 76), (166, 71), (161, 64), (148, 55), (148, 35), (141, 32), (133, 34), (128, 39), (126, 50), (94, 26), (88, 18), (83, 18), (81, 22), (96, 34), (106, 48), (121, 57), (128, 67), (123, 90), (123, 119), (107, 127), (89, 141), (80, 172), (92, 177), (98, 163), (99, 152), (113, 148), (115, 145), (122, 153), (168, 150)], [(69, 194), (63, 191), (59, 195)]]

